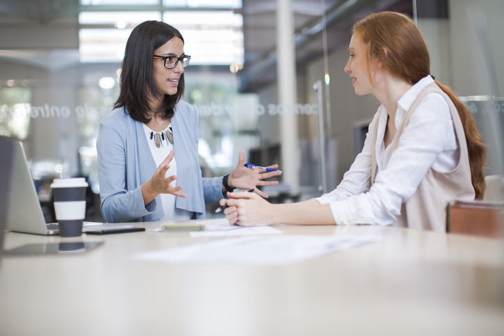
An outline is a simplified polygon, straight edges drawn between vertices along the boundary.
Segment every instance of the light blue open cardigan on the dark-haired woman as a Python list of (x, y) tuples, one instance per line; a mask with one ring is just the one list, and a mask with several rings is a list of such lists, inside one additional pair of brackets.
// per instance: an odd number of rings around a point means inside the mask
[[(205, 218), (205, 202), (219, 202), (224, 197), (222, 177), (201, 177), (198, 113), (194, 106), (178, 102), (171, 123), (177, 184), (184, 186), (182, 193), (188, 196), (176, 198), (175, 207), (193, 212), (193, 219)], [(143, 124), (133, 120), (124, 108), (116, 109), (102, 119), (96, 147), (100, 208), (105, 220), (108, 223), (150, 222), (162, 218), (164, 211), (159, 195), (148, 205), (143, 205), (141, 186), (157, 169)]]

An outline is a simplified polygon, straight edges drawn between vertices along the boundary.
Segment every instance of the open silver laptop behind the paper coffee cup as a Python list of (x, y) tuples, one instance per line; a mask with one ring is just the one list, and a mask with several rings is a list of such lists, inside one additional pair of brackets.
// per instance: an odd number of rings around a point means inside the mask
[[(5, 230), (31, 234), (59, 234), (58, 223), (45, 223), (42, 207), (31, 178), (24, 147), (20, 141), (13, 141), (13, 164), (10, 174), (10, 197), (7, 205)], [(84, 222), (87, 226), (103, 223)], [(102, 226), (102, 225), (100, 225)]]

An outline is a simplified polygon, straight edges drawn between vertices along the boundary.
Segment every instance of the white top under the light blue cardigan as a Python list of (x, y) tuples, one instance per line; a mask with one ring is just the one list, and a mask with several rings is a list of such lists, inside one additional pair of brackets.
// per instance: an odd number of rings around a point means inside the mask
[[(168, 157), (170, 151), (173, 150), (173, 144), (168, 141), (166, 136), (165, 139), (161, 141), (161, 146), (156, 147), (155, 138), (150, 138), (150, 134), (152, 129), (147, 127), (147, 125), (143, 124), (143, 130), (145, 131), (145, 136), (147, 136), (147, 142), (149, 144), (150, 152), (152, 153), (152, 157), (156, 163), (156, 167), (159, 168), (159, 165)], [(168, 131), (168, 127), (164, 129), (164, 131)], [(158, 132), (154, 132), (158, 133)], [(161, 133), (161, 132), (159, 132)], [(175, 160), (175, 156), (171, 160), (170, 168), (166, 171), (166, 177), (177, 175), (177, 161)], [(171, 182), (172, 186), (177, 186), (177, 180)], [(171, 195), (170, 193), (162, 193), (161, 202), (163, 205), (164, 217), (159, 218), (159, 221), (176, 221), (179, 219), (191, 219), (191, 212), (187, 210), (177, 209), (175, 207), (175, 199), (176, 196)]]

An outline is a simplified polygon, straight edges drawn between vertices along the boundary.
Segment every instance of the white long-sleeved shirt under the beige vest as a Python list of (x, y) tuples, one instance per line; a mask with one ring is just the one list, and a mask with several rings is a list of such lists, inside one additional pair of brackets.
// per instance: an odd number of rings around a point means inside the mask
[[(425, 86), (433, 83), (427, 76), (412, 86), (397, 102), (395, 127)], [(401, 205), (418, 188), (432, 167), (439, 172), (454, 169), (459, 161), (459, 148), (448, 103), (439, 93), (427, 95), (411, 114), (409, 124), (400, 137), (395, 151), (385, 148), (384, 134), (387, 111), (379, 116), (377, 134), (373, 134), (378, 114), (375, 114), (364, 147), (338, 187), (320, 198), (329, 204), (337, 224), (389, 225), (396, 221)], [(377, 138), (373, 148), (374, 138)], [(377, 175), (371, 186), (372, 150), (376, 152)]]

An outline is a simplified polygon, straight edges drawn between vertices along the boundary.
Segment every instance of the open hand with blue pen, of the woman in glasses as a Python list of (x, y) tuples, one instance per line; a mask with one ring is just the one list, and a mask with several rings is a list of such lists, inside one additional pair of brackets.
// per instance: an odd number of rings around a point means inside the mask
[[(262, 169), (251, 169), (244, 166), (245, 163), (245, 153), (240, 151), (238, 155), (238, 165), (235, 170), (231, 172), (228, 176), (228, 184), (233, 188), (239, 189), (254, 189), (256, 193), (264, 198), (268, 195), (255, 188), (255, 186), (276, 186), (278, 181), (265, 181), (269, 177), (274, 177), (282, 175), (280, 170), (276, 172), (265, 172)], [(278, 169), (278, 165), (268, 166), (267, 168)]]

